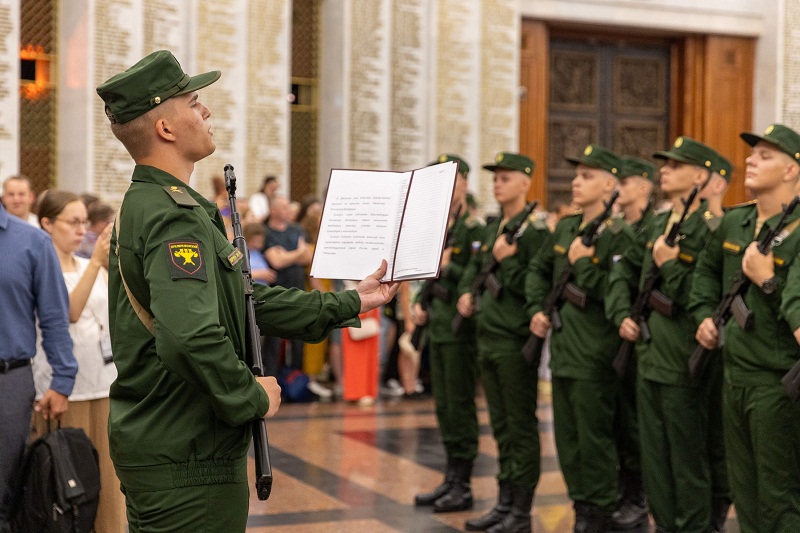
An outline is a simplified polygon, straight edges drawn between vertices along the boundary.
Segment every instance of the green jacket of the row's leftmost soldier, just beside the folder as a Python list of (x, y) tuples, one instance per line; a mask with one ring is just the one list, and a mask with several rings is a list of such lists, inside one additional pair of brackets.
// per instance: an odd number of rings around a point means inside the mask
[(421, 294), (429, 284), (437, 284), (439, 289), (444, 289), (449, 295), (448, 300), (433, 298), (428, 309), (429, 325), (428, 336), (434, 342), (455, 342), (458, 340), (474, 339), (474, 327), (472, 320), (468, 319), (469, 325), (462, 328), (462, 335), (453, 335), (451, 327), (453, 317), (456, 316), (456, 303), (458, 302), (458, 282), (464, 271), (469, 265), (474, 250), (477, 250), (486, 227), (477, 218), (468, 214), (460, 217), (453, 226), (453, 246), (450, 251), (450, 263), (442, 269), (438, 280), (427, 281), (422, 291), (417, 294), (416, 300), (419, 301)]

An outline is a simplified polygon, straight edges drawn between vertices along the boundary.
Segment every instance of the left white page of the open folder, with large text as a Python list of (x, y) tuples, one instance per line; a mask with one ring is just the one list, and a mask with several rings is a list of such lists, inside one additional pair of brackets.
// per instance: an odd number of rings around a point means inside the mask
[(411, 172), (331, 171), (311, 276), (361, 280), (386, 259), (392, 272)]

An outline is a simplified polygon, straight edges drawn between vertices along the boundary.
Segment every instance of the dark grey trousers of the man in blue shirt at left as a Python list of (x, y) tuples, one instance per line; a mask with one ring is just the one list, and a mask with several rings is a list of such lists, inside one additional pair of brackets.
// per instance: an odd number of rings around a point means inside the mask
[(10, 518), (35, 395), (30, 365), (0, 374), (0, 531)]

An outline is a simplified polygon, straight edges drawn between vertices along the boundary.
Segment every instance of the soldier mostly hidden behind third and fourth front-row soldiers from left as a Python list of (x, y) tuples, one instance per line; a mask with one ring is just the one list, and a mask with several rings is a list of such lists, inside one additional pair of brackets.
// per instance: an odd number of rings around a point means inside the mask
[[(622, 157), (620, 166), (620, 214), (634, 234), (653, 219), (652, 194), (656, 168), (638, 157)], [(635, 354), (634, 354), (635, 357)], [(631, 362), (620, 383), (614, 431), (619, 455), (619, 499), (612, 515), (614, 529), (631, 529), (648, 519), (636, 422), (636, 364)]]

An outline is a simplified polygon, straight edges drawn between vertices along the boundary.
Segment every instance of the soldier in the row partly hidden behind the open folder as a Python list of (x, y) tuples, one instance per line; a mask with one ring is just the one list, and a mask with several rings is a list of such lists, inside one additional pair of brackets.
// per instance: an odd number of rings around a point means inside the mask
[(469, 165), (452, 154), (442, 154), (432, 164), (446, 161), (458, 163), (458, 178), (450, 207), (453, 218), (448, 230), (450, 242), (442, 256), (439, 279), (425, 283), (412, 309), (412, 320), (417, 327), (427, 325), (431, 388), (439, 433), (447, 453), (444, 481), (433, 491), (418, 494), (414, 503), (433, 505), (436, 512), (472, 508), (470, 477), (472, 463), (478, 455), (475, 328), (470, 319), (459, 332), (454, 333), (451, 323), (458, 313), (458, 281), (469, 263), (473, 248), (480, 246), (484, 226), (467, 210)]

